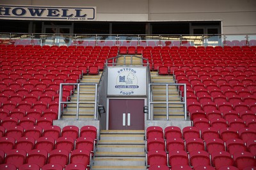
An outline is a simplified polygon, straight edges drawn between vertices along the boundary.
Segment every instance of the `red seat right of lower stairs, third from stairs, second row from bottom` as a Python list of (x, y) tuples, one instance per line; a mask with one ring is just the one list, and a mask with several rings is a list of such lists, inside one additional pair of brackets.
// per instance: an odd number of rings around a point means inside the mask
[(204, 150), (195, 150), (189, 153), (190, 165), (195, 169), (197, 166), (211, 166), (209, 153)]

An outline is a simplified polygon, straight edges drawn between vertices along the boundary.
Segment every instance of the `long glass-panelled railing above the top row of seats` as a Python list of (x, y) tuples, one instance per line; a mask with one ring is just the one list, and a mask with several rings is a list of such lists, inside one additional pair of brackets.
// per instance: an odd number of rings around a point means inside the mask
[(245, 46), (256, 45), (247, 35), (61, 35), (1, 33), (0, 44), (75, 46)]

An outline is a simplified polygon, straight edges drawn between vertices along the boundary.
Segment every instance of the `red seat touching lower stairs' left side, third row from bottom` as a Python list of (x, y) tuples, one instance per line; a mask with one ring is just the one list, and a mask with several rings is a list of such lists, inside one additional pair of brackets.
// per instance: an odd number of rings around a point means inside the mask
[(91, 137), (78, 137), (76, 140), (76, 149), (88, 150), (93, 152), (95, 141)]

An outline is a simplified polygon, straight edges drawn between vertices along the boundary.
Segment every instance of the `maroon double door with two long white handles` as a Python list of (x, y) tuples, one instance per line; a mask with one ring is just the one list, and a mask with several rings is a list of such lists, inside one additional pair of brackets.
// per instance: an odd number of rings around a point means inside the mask
[(109, 99), (109, 130), (144, 130), (144, 99)]

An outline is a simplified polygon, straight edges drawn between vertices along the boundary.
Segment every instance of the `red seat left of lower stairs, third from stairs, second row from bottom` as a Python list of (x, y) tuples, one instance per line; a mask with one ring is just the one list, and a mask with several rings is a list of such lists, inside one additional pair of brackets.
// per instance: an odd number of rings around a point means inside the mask
[(26, 162), (28, 164), (36, 164), (37, 166), (42, 168), (46, 164), (47, 158), (48, 158), (47, 151), (35, 149), (28, 152)]

